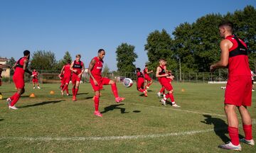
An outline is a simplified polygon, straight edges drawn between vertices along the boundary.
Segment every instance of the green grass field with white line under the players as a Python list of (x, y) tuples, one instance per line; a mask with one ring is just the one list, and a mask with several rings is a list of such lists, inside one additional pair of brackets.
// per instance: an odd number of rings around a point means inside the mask
[[(181, 108), (161, 106), (158, 83), (151, 86), (148, 97), (136, 86), (118, 84), (119, 95), (126, 98), (122, 103), (115, 103), (111, 86), (105, 86), (100, 98), (102, 118), (93, 115), (90, 84), (80, 85), (75, 102), (72, 96), (60, 96), (58, 86), (41, 84), (42, 89), (32, 89), (26, 84), (26, 93), (16, 103), (18, 110), (6, 105), (6, 98), (16, 91), (14, 84), (0, 86), (4, 96), (0, 152), (228, 152), (218, 148), (229, 140), (222, 84), (174, 83), (174, 98)], [(36, 97), (29, 98), (31, 93)], [(249, 108), (254, 137), (255, 94)], [(239, 130), (244, 136), (241, 126)], [(243, 152), (256, 152), (255, 147), (241, 145)]]

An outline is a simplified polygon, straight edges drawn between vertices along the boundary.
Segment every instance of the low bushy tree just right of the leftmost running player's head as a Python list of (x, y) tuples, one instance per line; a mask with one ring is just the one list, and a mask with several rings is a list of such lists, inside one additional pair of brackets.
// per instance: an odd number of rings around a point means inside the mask
[(54, 52), (38, 50), (32, 55), (31, 69), (55, 70), (56, 64)]

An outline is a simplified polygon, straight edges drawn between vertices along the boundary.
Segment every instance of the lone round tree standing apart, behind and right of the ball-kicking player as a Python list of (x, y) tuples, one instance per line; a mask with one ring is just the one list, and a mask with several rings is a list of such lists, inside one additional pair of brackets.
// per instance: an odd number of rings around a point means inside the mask
[(117, 71), (118, 72), (135, 72), (135, 60), (138, 55), (134, 52), (134, 46), (122, 43), (117, 47)]

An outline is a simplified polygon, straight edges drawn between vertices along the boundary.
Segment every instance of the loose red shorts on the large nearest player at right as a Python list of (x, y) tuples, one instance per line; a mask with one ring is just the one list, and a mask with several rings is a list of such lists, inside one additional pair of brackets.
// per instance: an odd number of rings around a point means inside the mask
[(224, 103), (235, 106), (252, 105), (252, 79), (250, 76), (228, 77)]

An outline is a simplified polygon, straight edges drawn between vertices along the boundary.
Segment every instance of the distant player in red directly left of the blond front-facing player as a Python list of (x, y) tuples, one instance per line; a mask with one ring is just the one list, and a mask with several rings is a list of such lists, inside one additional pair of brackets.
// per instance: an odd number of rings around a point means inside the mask
[(61, 95), (64, 95), (64, 91), (67, 92), (67, 96), (69, 95), (68, 93), (68, 84), (71, 79), (71, 70), (70, 70), (70, 60), (68, 60), (68, 63), (63, 66), (61, 69), (60, 74), (63, 74), (63, 86), (61, 88)]

